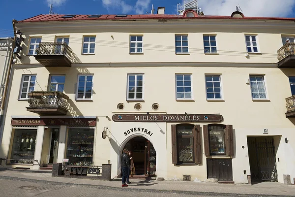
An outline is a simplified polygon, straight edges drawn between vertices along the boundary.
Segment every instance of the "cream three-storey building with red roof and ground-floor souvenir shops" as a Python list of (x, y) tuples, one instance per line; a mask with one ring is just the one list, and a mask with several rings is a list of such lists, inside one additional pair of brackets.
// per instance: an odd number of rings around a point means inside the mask
[(294, 20), (186, 10), (18, 21), (0, 157), (110, 163), (116, 177), (128, 148), (137, 175), (293, 179)]

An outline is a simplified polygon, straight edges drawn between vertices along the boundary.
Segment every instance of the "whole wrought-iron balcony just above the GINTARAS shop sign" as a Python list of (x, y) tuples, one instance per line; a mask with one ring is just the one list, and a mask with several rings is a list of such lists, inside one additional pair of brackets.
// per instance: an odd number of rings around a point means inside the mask
[(27, 111), (39, 115), (66, 115), (69, 97), (58, 91), (30, 92)]

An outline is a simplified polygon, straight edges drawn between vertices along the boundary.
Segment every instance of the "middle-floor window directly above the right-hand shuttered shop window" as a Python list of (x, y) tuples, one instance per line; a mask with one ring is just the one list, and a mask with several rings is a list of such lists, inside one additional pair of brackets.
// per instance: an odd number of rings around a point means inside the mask
[(206, 75), (207, 99), (221, 99), (220, 75)]

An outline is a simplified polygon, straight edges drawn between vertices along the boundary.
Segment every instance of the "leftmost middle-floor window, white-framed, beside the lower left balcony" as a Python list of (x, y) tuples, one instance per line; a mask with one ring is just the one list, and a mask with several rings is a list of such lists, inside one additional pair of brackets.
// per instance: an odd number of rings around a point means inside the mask
[(20, 99), (28, 99), (28, 93), (34, 91), (36, 75), (23, 75)]

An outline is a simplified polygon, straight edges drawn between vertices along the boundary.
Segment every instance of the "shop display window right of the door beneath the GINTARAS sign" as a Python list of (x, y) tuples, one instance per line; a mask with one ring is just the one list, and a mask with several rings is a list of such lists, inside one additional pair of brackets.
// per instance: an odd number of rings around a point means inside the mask
[(94, 129), (69, 129), (68, 165), (92, 165)]

